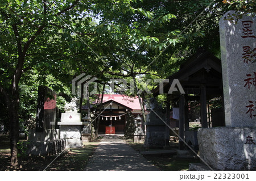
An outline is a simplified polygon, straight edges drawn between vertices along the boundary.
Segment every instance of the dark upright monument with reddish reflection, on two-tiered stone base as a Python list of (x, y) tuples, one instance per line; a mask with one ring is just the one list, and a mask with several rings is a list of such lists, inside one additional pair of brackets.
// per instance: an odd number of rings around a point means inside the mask
[(65, 149), (65, 140), (60, 139), (56, 128), (56, 92), (47, 86), (38, 87), (36, 127), (28, 132), (27, 154), (58, 154)]

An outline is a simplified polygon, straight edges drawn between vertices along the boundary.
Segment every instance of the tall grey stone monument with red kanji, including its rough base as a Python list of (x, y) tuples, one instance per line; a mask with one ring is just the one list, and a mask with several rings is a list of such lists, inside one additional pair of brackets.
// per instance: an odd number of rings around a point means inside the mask
[(256, 19), (220, 19), (226, 127), (200, 128), (200, 157), (212, 169), (256, 168)]

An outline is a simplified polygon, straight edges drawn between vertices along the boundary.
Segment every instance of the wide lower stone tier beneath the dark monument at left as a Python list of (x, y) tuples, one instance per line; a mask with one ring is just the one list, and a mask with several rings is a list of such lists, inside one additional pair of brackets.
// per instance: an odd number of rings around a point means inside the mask
[(66, 141), (64, 139), (54, 141), (28, 141), (26, 154), (28, 155), (55, 155), (65, 150)]

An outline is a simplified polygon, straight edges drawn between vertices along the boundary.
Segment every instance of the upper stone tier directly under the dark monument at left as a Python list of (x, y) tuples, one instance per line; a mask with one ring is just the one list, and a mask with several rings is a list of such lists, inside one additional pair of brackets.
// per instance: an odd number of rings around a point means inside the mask
[(28, 131), (28, 141), (53, 141), (60, 139), (60, 129), (44, 129), (36, 132), (35, 129)]

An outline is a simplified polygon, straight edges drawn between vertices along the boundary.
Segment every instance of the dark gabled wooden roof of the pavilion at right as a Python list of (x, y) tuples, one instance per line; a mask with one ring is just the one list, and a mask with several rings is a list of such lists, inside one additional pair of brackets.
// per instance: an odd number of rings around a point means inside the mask
[[(169, 82), (164, 83), (164, 93), (168, 93), (174, 79), (179, 79), (187, 95), (200, 95), (200, 85), (206, 86), (207, 99), (222, 95), (221, 60), (204, 49), (199, 49), (168, 79)], [(152, 92), (154, 96), (158, 96), (159, 86)], [(173, 92), (170, 97), (175, 99), (178, 95), (179, 92)]]

